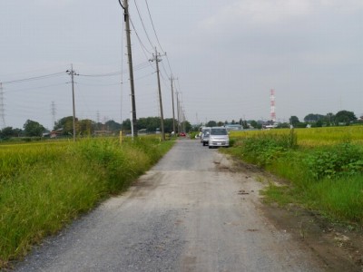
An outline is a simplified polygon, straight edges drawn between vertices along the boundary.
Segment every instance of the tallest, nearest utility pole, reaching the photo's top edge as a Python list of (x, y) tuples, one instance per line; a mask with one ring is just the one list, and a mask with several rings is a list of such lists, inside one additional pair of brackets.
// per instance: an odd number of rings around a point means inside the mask
[(129, 73), (130, 73), (130, 87), (131, 87), (131, 104), (132, 104), (132, 138), (137, 136), (137, 120), (136, 120), (136, 103), (135, 103), (135, 88), (133, 84), (133, 68), (132, 68), (132, 50), (131, 50), (131, 38), (130, 38), (130, 15), (129, 15), (129, 4), (127, 0), (119, 0), (120, 5), (123, 7), (123, 15), (125, 22), (126, 41), (127, 41), (127, 56), (129, 59)]

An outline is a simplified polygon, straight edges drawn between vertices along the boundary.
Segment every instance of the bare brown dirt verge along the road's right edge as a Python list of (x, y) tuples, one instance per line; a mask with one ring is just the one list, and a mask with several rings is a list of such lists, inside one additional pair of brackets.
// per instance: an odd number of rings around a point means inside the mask
[[(286, 183), (240, 160), (235, 160), (233, 171), (243, 172), (255, 180)], [(318, 212), (294, 204), (279, 207), (277, 203), (263, 203), (261, 210), (276, 228), (289, 232), (308, 246), (325, 263), (327, 271), (363, 271), (363, 228), (333, 224)]]

